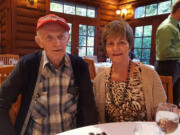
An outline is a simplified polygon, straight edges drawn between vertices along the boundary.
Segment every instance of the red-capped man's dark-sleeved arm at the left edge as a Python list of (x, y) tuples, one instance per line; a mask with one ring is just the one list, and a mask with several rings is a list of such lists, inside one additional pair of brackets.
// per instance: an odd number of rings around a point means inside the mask
[(17, 64), (12, 73), (0, 88), (0, 134), (16, 135), (15, 129), (9, 118), (9, 109), (16, 100), (23, 84), (20, 73), (20, 63)]

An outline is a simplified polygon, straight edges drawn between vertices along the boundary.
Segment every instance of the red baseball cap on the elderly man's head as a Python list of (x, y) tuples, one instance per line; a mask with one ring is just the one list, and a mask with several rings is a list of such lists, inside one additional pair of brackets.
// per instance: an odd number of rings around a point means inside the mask
[(36, 31), (38, 31), (39, 28), (41, 28), (43, 25), (45, 25), (47, 23), (57, 23), (57, 24), (60, 24), (61, 26), (63, 26), (66, 30), (68, 30), (68, 31), (70, 30), (70, 28), (64, 18), (61, 18), (54, 14), (48, 14), (48, 15), (45, 15), (45, 16), (39, 18), (39, 20), (37, 22)]

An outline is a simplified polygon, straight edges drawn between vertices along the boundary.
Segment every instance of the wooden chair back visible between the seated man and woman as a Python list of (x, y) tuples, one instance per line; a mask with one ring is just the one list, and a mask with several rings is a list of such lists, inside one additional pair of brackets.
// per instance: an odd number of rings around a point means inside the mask
[(91, 59), (84, 59), (88, 65), (89, 65), (89, 73), (90, 73), (90, 77), (91, 80), (94, 80), (95, 76), (96, 76), (96, 70), (95, 70), (95, 65), (94, 65), (94, 61)]

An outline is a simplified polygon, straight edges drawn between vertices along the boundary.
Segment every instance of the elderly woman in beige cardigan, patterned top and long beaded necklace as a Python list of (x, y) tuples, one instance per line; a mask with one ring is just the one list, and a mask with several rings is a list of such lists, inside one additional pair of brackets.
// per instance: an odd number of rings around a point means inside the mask
[(102, 44), (112, 66), (94, 79), (94, 94), (100, 122), (152, 120), (155, 108), (166, 101), (155, 70), (129, 58), (133, 48), (129, 24), (116, 20), (105, 26)]

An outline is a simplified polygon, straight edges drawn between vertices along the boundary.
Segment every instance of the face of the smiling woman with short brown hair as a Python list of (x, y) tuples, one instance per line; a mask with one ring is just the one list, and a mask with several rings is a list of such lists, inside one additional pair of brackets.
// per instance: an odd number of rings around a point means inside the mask
[(112, 63), (129, 60), (129, 43), (126, 38), (110, 35), (106, 39), (106, 52)]

